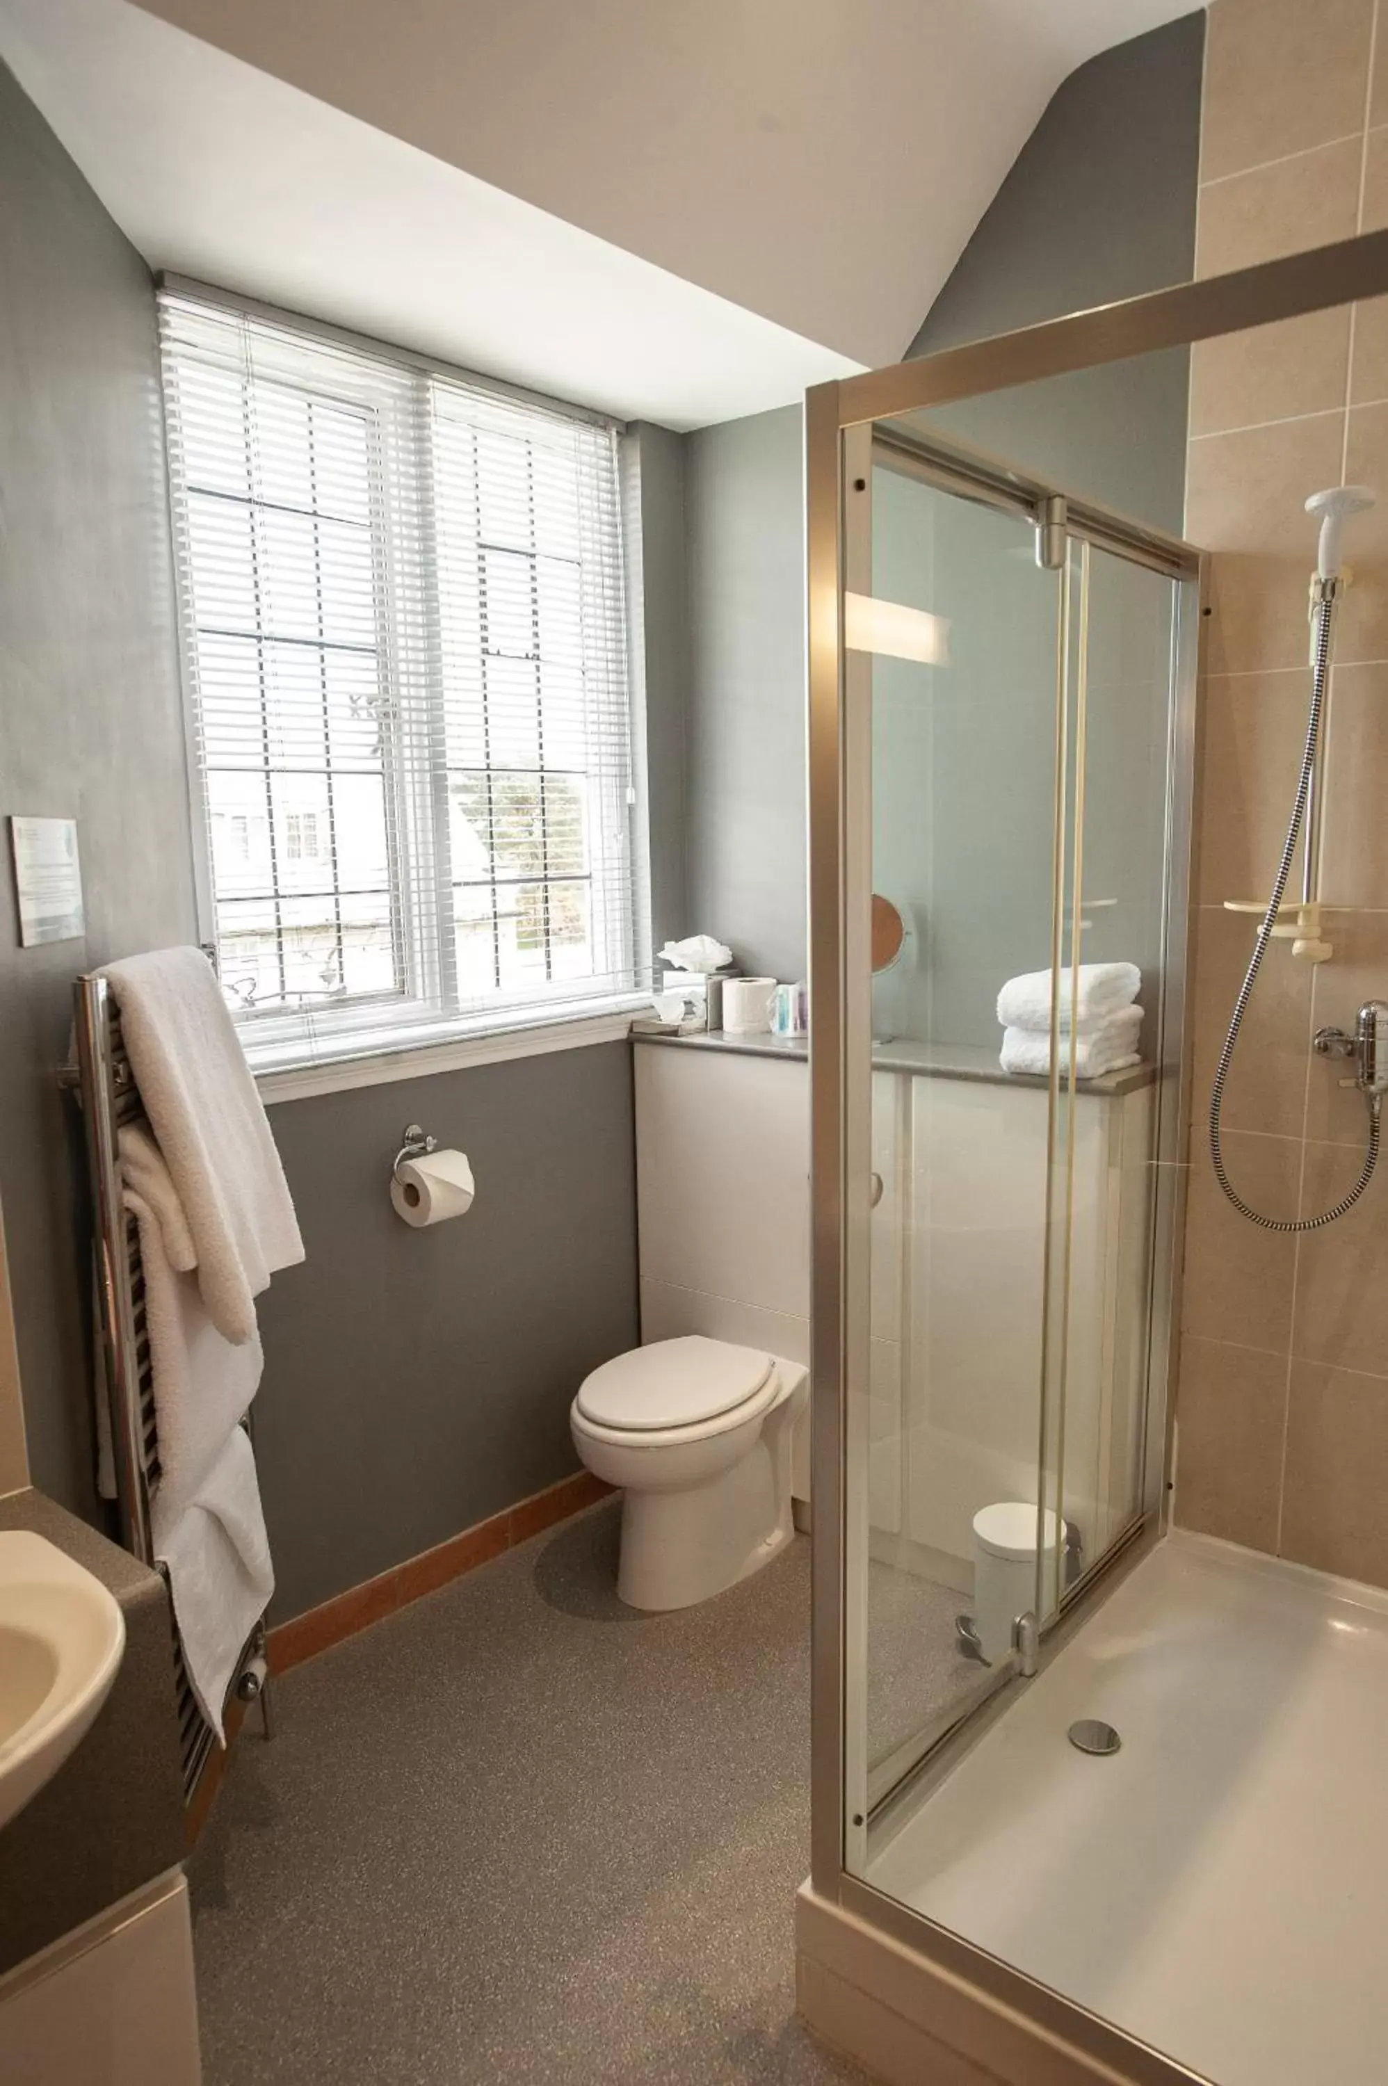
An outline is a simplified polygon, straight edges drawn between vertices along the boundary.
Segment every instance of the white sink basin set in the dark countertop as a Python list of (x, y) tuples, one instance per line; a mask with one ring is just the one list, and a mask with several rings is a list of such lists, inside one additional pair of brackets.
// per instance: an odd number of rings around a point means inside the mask
[(0, 1529), (0, 1825), (92, 1727), (125, 1617), (90, 1571), (29, 1529)]

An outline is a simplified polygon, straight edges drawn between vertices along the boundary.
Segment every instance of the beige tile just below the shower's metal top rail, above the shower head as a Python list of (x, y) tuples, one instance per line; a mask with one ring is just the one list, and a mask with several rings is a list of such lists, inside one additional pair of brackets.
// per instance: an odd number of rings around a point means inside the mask
[(1223, 434), (1344, 405), (1350, 307), (1254, 325), (1190, 350), (1190, 432)]

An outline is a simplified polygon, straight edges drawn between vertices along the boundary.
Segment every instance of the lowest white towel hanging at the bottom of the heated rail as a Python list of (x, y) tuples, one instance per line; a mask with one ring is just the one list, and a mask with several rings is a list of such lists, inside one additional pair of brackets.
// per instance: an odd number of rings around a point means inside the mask
[(184, 1665), (202, 1715), (225, 1744), (221, 1708), (246, 1638), (276, 1590), (244, 1427), (234, 1427), (196, 1498), (169, 1523), (154, 1502), (154, 1556), (169, 1569)]

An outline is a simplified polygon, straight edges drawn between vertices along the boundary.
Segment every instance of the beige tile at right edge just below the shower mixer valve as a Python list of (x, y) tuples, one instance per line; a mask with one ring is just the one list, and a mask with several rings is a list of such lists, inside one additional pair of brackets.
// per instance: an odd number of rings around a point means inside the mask
[[(1334, 1208), (1359, 1160), (1346, 1145), (1309, 1143), (1302, 1216)], [(1388, 1168), (1348, 1216), (1302, 1237), (1292, 1345), (1302, 1362), (1388, 1377)], [(1388, 1494), (1384, 1508), (1388, 1523)]]

